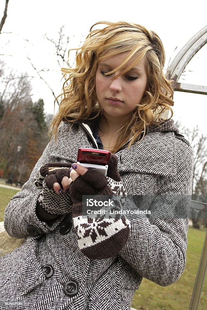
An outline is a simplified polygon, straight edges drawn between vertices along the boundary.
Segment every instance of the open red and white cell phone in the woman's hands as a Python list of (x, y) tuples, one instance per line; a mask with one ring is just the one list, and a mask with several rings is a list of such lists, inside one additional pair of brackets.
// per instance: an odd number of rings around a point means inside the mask
[(96, 170), (101, 175), (106, 176), (110, 155), (111, 152), (106, 150), (79, 148), (77, 163), (86, 168)]

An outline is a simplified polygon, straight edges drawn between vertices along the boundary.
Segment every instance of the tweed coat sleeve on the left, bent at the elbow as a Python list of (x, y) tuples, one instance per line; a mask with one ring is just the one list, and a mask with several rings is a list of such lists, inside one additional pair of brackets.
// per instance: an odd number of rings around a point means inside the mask
[(36, 163), (29, 180), (23, 185), (22, 190), (12, 197), (5, 209), (4, 226), (12, 237), (27, 237), (29, 235), (27, 231), (28, 226), (34, 226), (40, 234), (49, 232), (54, 230), (63, 218), (63, 216), (60, 216), (48, 224), (41, 221), (36, 214), (37, 198), (41, 189), (35, 186), (34, 181), (42, 165), (55, 161), (50, 156), (53, 147), (54, 141), (52, 140)]

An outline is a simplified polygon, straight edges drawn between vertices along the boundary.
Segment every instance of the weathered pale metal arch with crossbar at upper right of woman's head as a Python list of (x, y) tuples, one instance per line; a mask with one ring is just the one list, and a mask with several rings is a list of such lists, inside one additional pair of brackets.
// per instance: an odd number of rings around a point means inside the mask
[(207, 25), (184, 45), (169, 65), (168, 78), (175, 81), (176, 91), (207, 95), (207, 86), (178, 83), (178, 80), (189, 61), (206, 43)]

